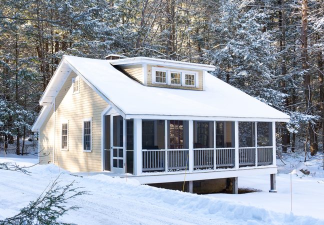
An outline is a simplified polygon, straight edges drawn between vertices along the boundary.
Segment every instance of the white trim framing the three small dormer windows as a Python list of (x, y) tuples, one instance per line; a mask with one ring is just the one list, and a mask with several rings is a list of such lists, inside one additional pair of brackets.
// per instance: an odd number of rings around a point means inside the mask
[[(155, 81), (155, 72), (156, 71), (163, 71), (166, 72), (166, 82), (156, 82)], [(180, 84), (171, 83), (171, 72), (179, 72), (181, 74), (181, 81)], [(185, 84), (185, 74), (194, 75), (194, 85), (187, 85)], [(171, 68), (160, 68), (160, 67), (152, 67), (152, 83), (153, 84), (166, 84), (170, 86), (184, 86), (184, 87), (198, 87), (199, 86), (199, 78), (197, 71), (190, 71), (190, 70), (182, 70), (182, 69), (171, 69)]]

